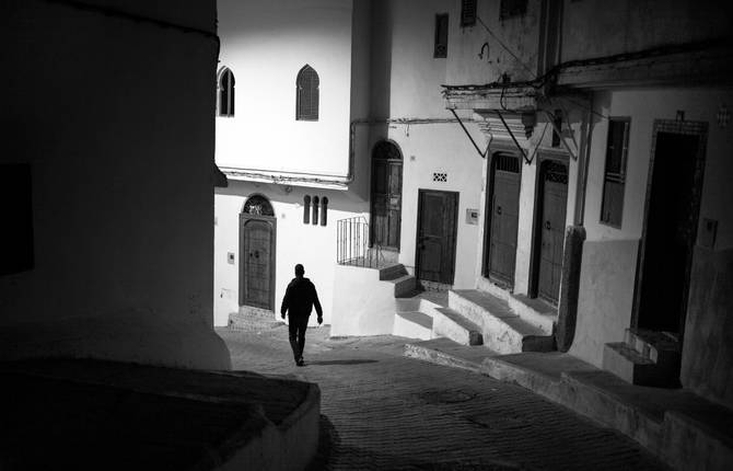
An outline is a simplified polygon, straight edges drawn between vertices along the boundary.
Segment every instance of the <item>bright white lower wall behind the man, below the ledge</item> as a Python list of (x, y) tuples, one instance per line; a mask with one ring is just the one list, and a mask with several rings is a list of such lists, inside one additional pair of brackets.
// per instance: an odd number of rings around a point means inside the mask
[[(238, 310), (238, 220), (246, 197), (253, 194), (267, 197), (277, 217), (274, 317), (280, 313), (282, 297), (288, 283), (294, 277), (293, 268), (298, 263), (305, 266), (305, 276), (316, 286), (324, 323), (331, 323), (337, 315), (333, 310), (334, 298), (337, 295), (349, 296), (349, 292), (336, 292), (340, 289), (335, 283), (337, 220), (365, 216), (365, 203), (341, 191), (293, 186), (290, 193), (286, 193), (284, 188), (283, 185), (237, 181), (230, 181), (229, 188), (218, 188), (214, 204), (214, 325), (226, 325), (229, 314)], [(306, 194), (311, 198), (328, 198), (327, 226), (303, 223), (303, 196)], [(234, 253), (234, 264), (228, 263), (229, 252)], [(315, 313), (311, 323), (316, 323)]]

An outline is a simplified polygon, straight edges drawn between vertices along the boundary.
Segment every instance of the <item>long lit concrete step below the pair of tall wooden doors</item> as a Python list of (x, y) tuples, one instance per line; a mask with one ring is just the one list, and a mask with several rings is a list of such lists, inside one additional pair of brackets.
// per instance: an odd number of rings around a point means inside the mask
[(526, 322), (507, 301), (476, 289), (449, 291), (449, 307), (477, 324), (484, 344), (499, 354), (549, 352), (554, 338), (537, 325)]

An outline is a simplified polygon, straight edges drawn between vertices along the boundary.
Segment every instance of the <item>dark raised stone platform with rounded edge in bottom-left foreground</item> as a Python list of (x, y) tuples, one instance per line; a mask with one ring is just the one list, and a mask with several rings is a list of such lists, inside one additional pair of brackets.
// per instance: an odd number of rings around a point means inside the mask
[[(19, 433), (33, 435), (18, 451), (23, 460), (35, 462), (34, 438), (48, 434), (50, 443), (40, 443), (37, 451), (58, 449), (61, 456), (49, 455), (54, 466), (69, 459), (70, 467), (90, 469), (110, 464), (107, 451), (123, 452), (113, 469), (155, 462), (188, 468), (197, 461), (197, 469), (303, 469), (318, 445), (321, 391), (309, 382), (73, 359), (4, 363), (0, 375), (12, 378), (3, 388), (13, 398), (3, 402), (13, 407), (3, 412), (4, 420), (22, 422), (15, 439), (23, 440)], [(23, 390), (31, 393), (19, 395)]]

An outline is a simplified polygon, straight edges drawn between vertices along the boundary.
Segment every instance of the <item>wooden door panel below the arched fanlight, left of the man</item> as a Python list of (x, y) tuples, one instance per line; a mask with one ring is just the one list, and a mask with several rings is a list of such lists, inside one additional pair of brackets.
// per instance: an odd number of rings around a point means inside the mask
[(242, 218), (242, 273), (240, 303), (274, 309), (275, 220)]

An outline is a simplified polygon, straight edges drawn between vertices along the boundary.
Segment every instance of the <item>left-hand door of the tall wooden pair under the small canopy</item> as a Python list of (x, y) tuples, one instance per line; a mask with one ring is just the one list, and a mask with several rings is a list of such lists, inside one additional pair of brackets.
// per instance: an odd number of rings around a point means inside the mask
[(489, 278), (513, 286), (520, 215), (520, 161), (515, 156), (496, 154), (493, 169), (486, 272)]

